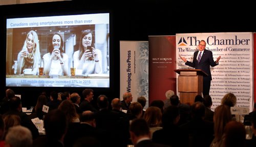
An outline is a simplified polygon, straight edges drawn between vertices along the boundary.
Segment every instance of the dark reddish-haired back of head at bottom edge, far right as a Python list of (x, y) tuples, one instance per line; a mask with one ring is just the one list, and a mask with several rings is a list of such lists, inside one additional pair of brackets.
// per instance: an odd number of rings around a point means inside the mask
[(226, 147), (245, 146), (245, 127), (242, 123), (237, 121), (230, 121), (225, 127), (225, 140)]

